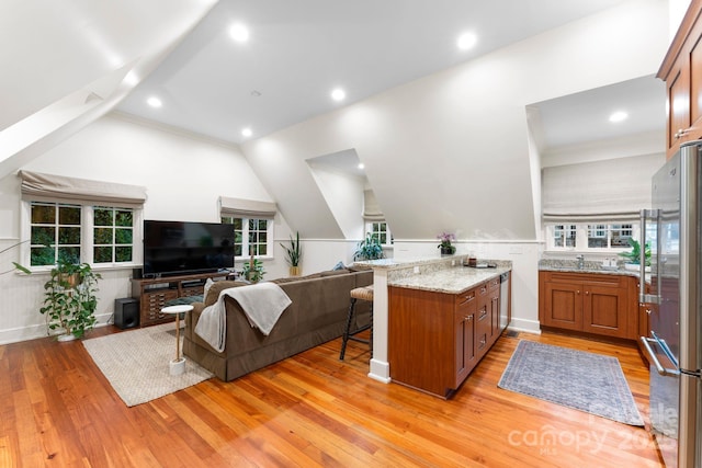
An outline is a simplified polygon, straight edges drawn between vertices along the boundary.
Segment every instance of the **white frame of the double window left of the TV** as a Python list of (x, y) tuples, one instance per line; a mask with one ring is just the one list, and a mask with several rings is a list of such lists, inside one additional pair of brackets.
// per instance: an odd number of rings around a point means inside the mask
[[(139, 240), (143, 239), (144, 225), (144, 207), (143, 206), (123, 206), (110, 205), (104, 202), (81, 202), (81, 201), (48, 201), (45, 198), (26, 198), (21, 202), (20, 221), (22, 239), (31, 239), (32, 237), (32, 204), (49, 204), (49, 205), (68, 205), (79, 206), (80, 209), (80, 261), (88, 263), (93, 270), (115, 270), (115, 269), (134, 269), (143, 264), (144, 249), (139, 248)], [(113, 208), (129, 209), (133, 213), (132, 226), (132, 260), (129, 262), (101, 262), (94, 263), (94, 209), (95, 208)], [(31, 246), (30, 242), (22, 244), (21, 259), (24, 265), (29, 265), (31, 272), (48, 272), (56, 263), (52, 265), (31, 265)]]

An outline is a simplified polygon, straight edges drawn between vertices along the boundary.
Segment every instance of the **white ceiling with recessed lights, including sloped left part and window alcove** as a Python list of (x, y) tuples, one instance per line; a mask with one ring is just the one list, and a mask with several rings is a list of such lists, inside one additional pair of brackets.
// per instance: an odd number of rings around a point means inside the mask
[[(114, 109), (241, 144), (624, 2), (3, 1), (0, 175)], [(233, 39), (235, 23), (248, 42)], [(464, 32), (472, 49), (456, 47)], [(542, 149), (663, 127), (661, 87), (647, 77), (535, 103)], [(614, 99), (635, 110), (624, 125), (602, 124)]]

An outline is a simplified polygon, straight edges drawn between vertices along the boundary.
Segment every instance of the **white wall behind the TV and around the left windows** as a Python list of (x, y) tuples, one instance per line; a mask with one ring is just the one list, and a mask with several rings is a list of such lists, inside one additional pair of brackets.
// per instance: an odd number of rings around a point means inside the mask
[[(257, 175), (231, 145), (220, 145), (166, 127), (137, 122), (123, 115), (109, 115), (33, 160), (23, 169), (147, 187), (144, 207), (147, 219), (219, 221), (220, 195), (271, 201)], [(0, 180), (0, 213), (3, 226), (0, 250), (20, 237), (20, 180)], [(275, 219), (278, 235), (287, 239), (290, 229), (281, 216)], [(138, 247), (137, 247), (138, 249)], [(0, 255), (0, 272), (20, 261), (19, 249)], [(276, 243), (276, 259), (268, 261), (267, 277), (285, 276), (287, 266)], [(105, 322), (114, 299), (131, 295), (131, 269), (102, 271), (98, 318)], [(8, 273), (0, 276), (0, 343), (46, 334), (38, 310), (47, 274), (31, 276)]]

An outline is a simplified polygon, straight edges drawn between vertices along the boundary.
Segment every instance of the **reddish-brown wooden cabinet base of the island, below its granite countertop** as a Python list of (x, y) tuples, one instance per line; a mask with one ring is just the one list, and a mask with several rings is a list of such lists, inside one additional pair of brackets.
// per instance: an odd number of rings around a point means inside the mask
[(461, 386), (500, 332), (499, 277), (488, 283), (460, 294), (388, 287), (393, 381), (441, 398)]

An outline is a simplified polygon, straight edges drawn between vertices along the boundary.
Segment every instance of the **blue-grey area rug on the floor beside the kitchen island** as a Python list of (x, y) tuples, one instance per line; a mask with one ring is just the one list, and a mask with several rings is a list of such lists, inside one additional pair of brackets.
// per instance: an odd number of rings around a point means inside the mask
[(615, 357), (521, 340), (498, 387), (625, 424), (644, 425)]

